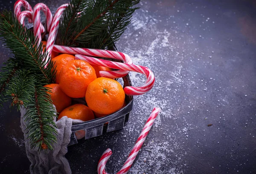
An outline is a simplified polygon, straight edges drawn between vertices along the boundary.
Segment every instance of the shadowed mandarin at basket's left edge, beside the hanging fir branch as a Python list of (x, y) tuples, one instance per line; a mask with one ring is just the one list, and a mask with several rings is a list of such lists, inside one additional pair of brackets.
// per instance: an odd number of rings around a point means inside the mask
[(55, 105), (56, 110), (58, 113), (60, 113), (62, 110), (64, 110), (66, 107), (70, 106), (71, 99), (69, 96), (67, 96), (60, 88), (60, 85), (58, 84), (47, 84), (44, 87), (51, 88), (49, 89), (51, 93), (51, 99), (52, 104)]

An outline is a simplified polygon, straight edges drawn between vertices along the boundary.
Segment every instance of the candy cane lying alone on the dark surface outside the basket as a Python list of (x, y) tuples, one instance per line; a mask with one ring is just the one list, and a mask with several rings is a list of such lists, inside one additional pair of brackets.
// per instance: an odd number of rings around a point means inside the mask
[[(116, 174), (127, 174), (128, 170), (131, 168), (131, 165), (133, 164), (135, 158), (137, 157), (137, 154), (139, 153), (139, 150), (142, 147), (146, 137), (148, 136), (148, 133), (159, 113), (160, 113), (160, 108), (158, 107), (155, 107), (152, 110), (146, 124), (143, 127), (143, 130), (140, 133), (139, 138), (137, 139), (134, 145), (134, 148), (131, 150), (131, 153), (129, 154), (122, 168)], [(108, 159), (111, 157), (111, 154), (112, 154), (112, 151), (109, 148), (102, 154), (102, 157), (99, 159), (99, 163), (98, 163), (98, 168), (97, 168), (98, 174), (108, 174), (106, 172), (105, 167), (106, 167), (106, 163), (108, 162)]]

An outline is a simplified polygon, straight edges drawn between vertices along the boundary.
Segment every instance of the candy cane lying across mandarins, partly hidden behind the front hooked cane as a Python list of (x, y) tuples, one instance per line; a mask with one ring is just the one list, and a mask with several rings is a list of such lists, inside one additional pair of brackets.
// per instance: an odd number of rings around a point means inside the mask
[[(100, 58), (114, 58), (117, 60), (124, 61), (127, 64), (132, 64), (131, 57), (122, 52), (104, 50), (104, 49), (87, 49), (87, 48), (75, 48), (69, 46), (60, 46), (54, 45), (53, 51), (67, 53), (67, 54), (80, 54), (80, 55), (87, 55), (87, 56), (95, 56)], [(108, 77), (108, 78), (121, 78), (124, 77), (129, 73), (129, 71), (125, 70), (117, 70), (117, 71), (100, 71), (99, 72), (101, 77)]]

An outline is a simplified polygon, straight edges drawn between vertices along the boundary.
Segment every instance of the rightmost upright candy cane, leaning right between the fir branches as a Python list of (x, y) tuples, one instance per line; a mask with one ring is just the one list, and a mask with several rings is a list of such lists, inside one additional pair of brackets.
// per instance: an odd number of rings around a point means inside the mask
[[(63, 4), (56, 10), (56, 12), (54, 14), (54, 17), (52, 20), (52, 26), (51, 26), (51, 29), (49, 32), (49, 37), (48, 37), (47, 44), (46, 44), (46, 50), (48, 51), (48, 57), (45, 62), (48, 62), (49, 56), (52, 53), (52, 48), (53, 48), (53, 44), (54, 44), (56, 36), (57, 36), (61, 14), (64, 12), (64, 10), (67, 8), (67, 6), (68, 6), (68, 3)], [(47, 64), (45, 65), (45, 68), (46, 67), (47, 67)]]

